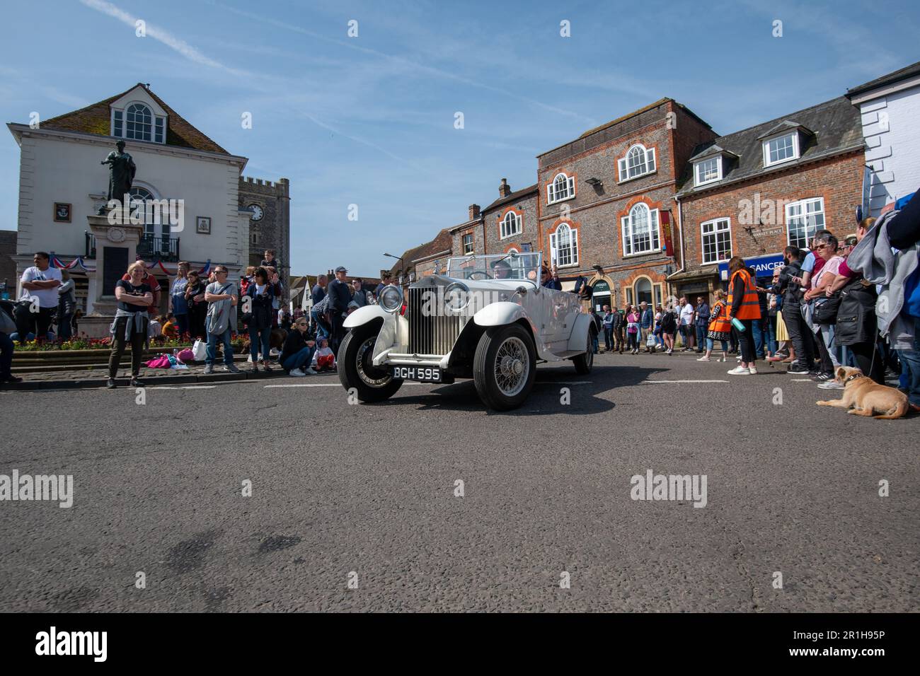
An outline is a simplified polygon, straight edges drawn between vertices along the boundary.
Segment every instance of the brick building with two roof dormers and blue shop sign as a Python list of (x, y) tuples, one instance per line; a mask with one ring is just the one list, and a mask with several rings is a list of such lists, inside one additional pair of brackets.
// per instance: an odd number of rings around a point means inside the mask
[(685, 264), (669, 278), (675, 294), (708, 297), (732, 256), (769, 276), (816, 230), (854, 232), (864, 149), (845, 97), (698, 145), (676, 195)]

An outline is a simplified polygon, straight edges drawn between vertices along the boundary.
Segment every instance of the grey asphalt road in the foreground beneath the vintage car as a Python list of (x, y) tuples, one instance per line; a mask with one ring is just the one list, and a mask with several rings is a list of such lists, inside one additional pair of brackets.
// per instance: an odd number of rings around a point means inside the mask
[[(0, 502), (0, 611), (916, 611), (920, 418), (733, 365), (544, 365), (503, 414), (328, 375), (2, 394), (0, 474), (74, 502)], [(647, 470), (706, 475), (706, 507), (630, 498)]]

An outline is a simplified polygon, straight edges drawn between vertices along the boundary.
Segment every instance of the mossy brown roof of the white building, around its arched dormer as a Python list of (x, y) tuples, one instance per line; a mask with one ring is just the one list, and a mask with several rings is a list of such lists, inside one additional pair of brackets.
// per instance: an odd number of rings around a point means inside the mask
[[(106, 98), (105, 100), (94, 103), (91, 106), (86, 106), (86, 108), (64, 113), (63, 115), (58, 115), (56, 118), (51, 118), (50, 120), (44, 120), (41, 122), (41, 129), (54, 129), (62, 132), (91, 133), (97, 134), (98, 136), (109, 136), (114, 138), (109, 133), (111, 132), (111, 115), (109, 113), (109, 106), (114, 101), (117, 101), (119, 98), (130, 92), (136, 86), (143, 87), (144, 91), (147, 92), (147, 94), (149, 94), (157, 104), (159, 104), (164, 110), (167, 111), (167, 115), (169, 115), (167, 120), (167, 145), (176, 145), (183, 148), (191, 148), (193, 150), (203, 150), (208, 153), (230, 155), (224, 150), (224, 148), (222, 148), (217, 143), (214, 143), (212, 139), (208, 138), (208, 136), (196, 129), (188, 120), (185, 120), (185, 118), (179, 115), (178, 112), (169, 108), (169, 106), (167, 106), (162, 98), (157, 97), (143, 83), (138, 83), (137, 85), (121, 92), (121, 94), (116, 94), (114, 97)], [(126, 142), (150, 143), (145, 141), (133, 141), (131, 139), (126, 139)], [(161, 145), (161, 143), (155, 143), (155, 145)]]

